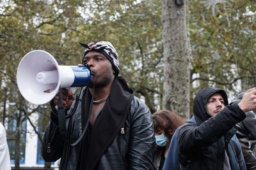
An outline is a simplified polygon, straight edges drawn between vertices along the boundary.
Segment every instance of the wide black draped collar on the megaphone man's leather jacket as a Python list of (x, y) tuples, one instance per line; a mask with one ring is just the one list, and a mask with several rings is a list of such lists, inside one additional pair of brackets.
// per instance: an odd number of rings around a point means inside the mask
[[(100, 157), (108, 150), (120, 129), (124, 125), (130, 110), (134, 91), (122, 77), (115, 78), (109, 97), (92, 127), (88, 145), (86, 169), (93, 169)], [(90, 92), (87, 89), (82, 99), (82, 118), (88, 119)]]

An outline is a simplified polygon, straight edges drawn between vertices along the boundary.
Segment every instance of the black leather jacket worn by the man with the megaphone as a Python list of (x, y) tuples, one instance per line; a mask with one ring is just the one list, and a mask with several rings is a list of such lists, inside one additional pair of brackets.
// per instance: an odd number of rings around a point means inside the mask
[[(81, 100), (73, 118), (72, 142), (76, 141), (82, 132)], [(47, 146), (51, 147), (51, 152), (47, 152)], [(70, 147), (69, 152), (67, 150), (68, 145), (63, 144), (58, 125), (51, 120), (43, 137), (43, 158), (47, 162), (61, 158), (61, 163), (67, 162), (68, 170), (76, 169), (80, 145)], [(60, 167), (60, 169), (63, 168)], [(120, 129), (120, 133), (117, 134), (107, 152), (97, 162), (96, 169), (156, 169), (156, 143), (152, 117), (145, 103), (137, 97), (134, 96), (132, 100), (124, 124), (124, 134)]]

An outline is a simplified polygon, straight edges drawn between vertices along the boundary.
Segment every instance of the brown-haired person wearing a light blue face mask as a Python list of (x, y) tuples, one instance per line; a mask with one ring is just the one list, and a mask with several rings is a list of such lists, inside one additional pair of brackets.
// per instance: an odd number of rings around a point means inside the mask
[(156, 111), (152, 115), (154, 132), (156, 138), (157, 170), (161, 170), (164, 165), (170, 141), (175, 130), (185, 124), (184, 120), (169, 110)]

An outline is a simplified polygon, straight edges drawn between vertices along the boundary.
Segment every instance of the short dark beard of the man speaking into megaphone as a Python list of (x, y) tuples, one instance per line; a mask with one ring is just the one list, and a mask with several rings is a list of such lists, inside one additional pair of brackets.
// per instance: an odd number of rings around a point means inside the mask
[(100, 88), (100, 87), (106, 87), (111, 82), (111, 75), (108, 74), (104, 77), (99, 78), (97, 75), (93, 75), (93, 78), (91, 78), (90, 83), (87, 85), (89, 88)]

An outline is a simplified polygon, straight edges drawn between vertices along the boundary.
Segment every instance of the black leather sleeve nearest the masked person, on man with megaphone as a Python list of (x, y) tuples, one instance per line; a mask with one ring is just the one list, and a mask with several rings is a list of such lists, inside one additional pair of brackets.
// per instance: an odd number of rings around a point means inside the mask
[(150, 110), (142, 102), (132, 102), (128, 169), (156, 169), (156, 143)]

